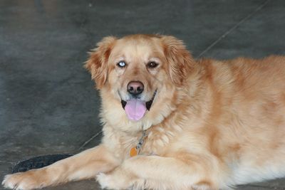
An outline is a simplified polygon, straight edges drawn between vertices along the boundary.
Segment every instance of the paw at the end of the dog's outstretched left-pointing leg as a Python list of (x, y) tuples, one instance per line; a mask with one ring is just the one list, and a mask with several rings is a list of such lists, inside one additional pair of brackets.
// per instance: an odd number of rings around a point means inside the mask
[(44, 181), (41, 181), (41, 176), (37, 176), (36, 172), (26, 171), (16, 174), (9, 174), (4, 177), (2, 185), (5, 188), (26, 190), (26, 189), (40, 189), (46, 186)]

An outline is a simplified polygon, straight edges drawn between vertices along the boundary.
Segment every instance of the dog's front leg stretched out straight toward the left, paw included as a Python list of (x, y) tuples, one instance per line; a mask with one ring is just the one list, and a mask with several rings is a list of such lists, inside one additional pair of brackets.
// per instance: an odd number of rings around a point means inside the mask
[(90, 179), (99, 172), (113, 170), (118, 164), (113, 154), (99, 145), (48, 167), (6, 175), (2, 184), (11, 189), (38, 189), (67, 181)]

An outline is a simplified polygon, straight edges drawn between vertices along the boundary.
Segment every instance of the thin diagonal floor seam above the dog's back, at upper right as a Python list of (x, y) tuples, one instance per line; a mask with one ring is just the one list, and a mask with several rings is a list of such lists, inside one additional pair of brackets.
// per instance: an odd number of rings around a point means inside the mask
[(232, 28), (229, 28), (228, 31), (226, 31), (222, 36), (217, 38), (217, 40), (214, 41), (211, 45), (209, 45), (204, 51), (202, 51), (202, 53), (199, 54), (198, 58), (200, 58), (202, 55), (204, 55), (204, 53), (207, 53), (207, 51), (209, 51), (212, 47), (214, 47), (217, 43), (219, 43), (219, 41), (221, 41), (223, 38), (225, 38), (227, 35), (229, 35), (229, 33), (232, 33), (232, 31), (234, 31), (234, 29), (236, 29), (238, 26), (240, 26), (242, 23), (244, 23), (244, 21), (247, 21), (247, 19), (249, 19), (252, 16), (254, 16), (254, 14), (256, 14), (258, 11), (260, 11), (266, 4), (269, 3), (269, 1), (271, 1), (271, 0), (264, 1), (264, 3), (261, 4), (260, 6), (258, 6), (257, 9), (255, 9), (251, 14), (247, 15), (246, 17), (244, 17), (244, 19), (239, 21)]

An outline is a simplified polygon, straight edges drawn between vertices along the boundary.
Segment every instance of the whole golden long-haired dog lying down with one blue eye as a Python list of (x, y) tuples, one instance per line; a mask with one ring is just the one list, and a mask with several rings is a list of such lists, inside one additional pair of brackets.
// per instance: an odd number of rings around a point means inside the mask
[(86, 68), (102, 143), (5, 187), (231, 189), (285, 176), (285, 57), (195, 60), (175, 37), (137, 34), (103, 38)]

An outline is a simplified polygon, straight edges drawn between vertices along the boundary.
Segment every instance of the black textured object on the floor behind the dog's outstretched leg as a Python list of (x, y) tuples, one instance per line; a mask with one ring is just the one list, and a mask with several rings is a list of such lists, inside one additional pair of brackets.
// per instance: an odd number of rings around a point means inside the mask
[(46, 167), (50, 164), (53, 164), (54, 162), (57, 162), (58, 160), (65, 159), (71, 156), (73, 156), (73, 154), (51, 154), (51, 155), (45, 155), (45, 156), (40, 156), (40, 157), (33, 157), (31, 159), (26, 159), (16, 164), (12, 169), (12, 173)]

